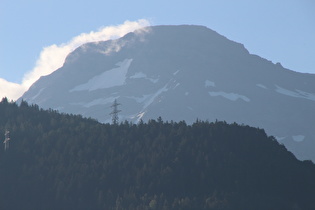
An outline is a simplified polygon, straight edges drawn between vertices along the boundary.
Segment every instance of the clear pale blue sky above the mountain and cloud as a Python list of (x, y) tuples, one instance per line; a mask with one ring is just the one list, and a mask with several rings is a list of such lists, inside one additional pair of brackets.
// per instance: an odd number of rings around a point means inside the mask
[[(40, 75), (42, 66), (58, 66), (49, 63), (52, 57), (84, 42), (82, 33), (98, 36), (106, 26), (121, 25), (118, 31), (109, 30), (110, 36), (85, 40), (108, 39), (149, 24), (204, 25), (244, 44), (252, 54), (315, 73), (313, 0), (0, 0), (0, 97), (4, 86), (17, 88), (35, 68)], [(73, 44), (78, 36), (81, 41)], [(56, 50), (69, 43), (68, 51)]]

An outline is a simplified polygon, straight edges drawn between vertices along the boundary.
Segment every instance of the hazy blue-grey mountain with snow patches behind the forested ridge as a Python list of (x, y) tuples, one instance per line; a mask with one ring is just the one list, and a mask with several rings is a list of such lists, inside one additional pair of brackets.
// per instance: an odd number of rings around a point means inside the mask
[(225, 120), (264, 128), (315, 161), (315, 75), (251, 55), (202, 26), (154, 26), (70, 53), (20, 98), (110, 122)]

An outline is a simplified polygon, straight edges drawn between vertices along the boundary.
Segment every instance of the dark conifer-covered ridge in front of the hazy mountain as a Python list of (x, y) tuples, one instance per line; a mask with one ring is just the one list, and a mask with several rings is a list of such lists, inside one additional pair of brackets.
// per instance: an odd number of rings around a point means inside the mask
[(6, 129), (0, 209), (315, 209), (315, 165), (263, 129), (101, 124), (3, 99)]

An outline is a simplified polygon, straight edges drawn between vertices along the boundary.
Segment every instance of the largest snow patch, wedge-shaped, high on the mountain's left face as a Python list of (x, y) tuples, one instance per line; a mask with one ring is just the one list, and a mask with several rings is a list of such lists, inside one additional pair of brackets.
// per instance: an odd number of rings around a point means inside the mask
[(78, 85), (75, 88), (71, 89), (73, 91), (82, 91), (82, 90), (98, 90), (104, 88), (110, 88), (115, 86), (121, 86), (125, 84), (126, 74), (128, 72), (129, 66), (132, 62), (132, 59), (125, 59), (122, 62), (118, 62), (116, 65), (117, 68), (105, 71), (104, 73), (93, 77), (87, 83)]

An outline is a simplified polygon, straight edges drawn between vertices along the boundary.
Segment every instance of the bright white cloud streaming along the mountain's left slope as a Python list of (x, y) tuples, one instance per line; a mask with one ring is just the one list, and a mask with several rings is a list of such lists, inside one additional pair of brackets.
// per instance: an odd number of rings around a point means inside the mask
[[(129, 32), (148, 25), (150, 25), (149, 21), (145, 19), (138, 21), (125, 21), (123, 24), (118, 26), (107, 26), (100, 28), (96, 32), (91, 31), (90, 33), (82, 33), (67, 43), (60, 45), (54, 44), (45, 47), (40, 53), (35, 67), (24, 75), (22, 84), (8, 82), (0, 78), (0, 97), (8, 97), (11, 100), (18, 99), (41, 76), (51, 74), (60, 68), (64, 63), (66, 56), (82, 44), (117, 39)], [(117, 49), (115, 48), (115, 51)]]

